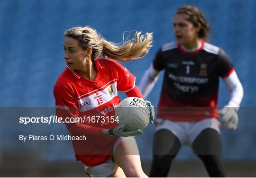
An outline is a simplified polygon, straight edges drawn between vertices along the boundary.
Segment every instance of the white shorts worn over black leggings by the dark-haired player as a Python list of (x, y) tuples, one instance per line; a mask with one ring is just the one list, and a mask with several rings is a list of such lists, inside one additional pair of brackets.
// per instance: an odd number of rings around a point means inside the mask
[(160, 129), (167, 129), (178, 137), (182, 145), (191, 145), (195, 138), (207, 128), (215, 129), (219, 134), (220, 123), (215, 118), (207, 118), (195, 122), (179, 122), (157, 118), (155, 132)]

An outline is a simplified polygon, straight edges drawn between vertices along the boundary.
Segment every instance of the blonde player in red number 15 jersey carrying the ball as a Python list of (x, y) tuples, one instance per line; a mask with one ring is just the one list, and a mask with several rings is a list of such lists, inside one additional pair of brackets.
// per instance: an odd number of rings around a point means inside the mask
[[(146, 177), (134, 139), (142, 131), (125, 132), (125, 125), (117, 126), (118, 118), (114, 118), (118, 91), (128, 97), (143, 96), (135, 76), (115, 60), (144, 57), (152, 34), (136, 32), (122, 45), (107, 41), (91, 27), (73, 27), (64, 36), (67, 67), (56, 81), (54, 96), (56, 114), (65, 118), (70, 134), (86, 136), (86, 140), (72, 141), (76, 160), (82, 161), (89, 177)], [(108, 58), (99, 58), (100, 54)], [(153, 119), (152, 114), (151, 123)]]

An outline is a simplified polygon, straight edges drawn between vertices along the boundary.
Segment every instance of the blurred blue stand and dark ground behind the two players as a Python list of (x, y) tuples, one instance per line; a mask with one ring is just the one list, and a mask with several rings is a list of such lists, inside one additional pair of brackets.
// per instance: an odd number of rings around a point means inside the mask
[[(65, 69), (66, 29), (91, 26), (107, 40), (124, 32), (154, 32), (148, 55), (122, 63), (139, 83), (156, 51), (174, 41), (172, 20), (183, 5), (201, 9), (211, 25), (210, 43), (224, 49), (244, 88), (236, 131), (221, 128), (223, 160), (229, 177), (256, 177), (256, 1), (254, 0), (0, 0), (0, 176), (84, 177), (71, 141), (18, 140), (19, 134), (67, 134), (64, 125), (21, 125), (21, 116), (55, 115), (53, 88)], [(148, 100), (156, 107), (163, 73)], [(123, 99), (126, 96), (120, 94)], [(220, 80), (219, 104), (229, 93)], [(137, 136), (142, 166), (149, 173), (154, 127)], [(207, 177), (190, 147), (175, 158), (169, 177)]]

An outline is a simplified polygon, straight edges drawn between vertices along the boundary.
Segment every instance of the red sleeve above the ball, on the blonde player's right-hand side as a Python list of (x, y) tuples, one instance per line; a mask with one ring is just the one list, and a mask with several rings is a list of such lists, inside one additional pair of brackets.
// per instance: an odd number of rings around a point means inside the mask
[(135, 76), (123, 65), (114, 61), (113, 69), (117, 75), (117, 89), (122, 92), (128, 92), (135, 87)]

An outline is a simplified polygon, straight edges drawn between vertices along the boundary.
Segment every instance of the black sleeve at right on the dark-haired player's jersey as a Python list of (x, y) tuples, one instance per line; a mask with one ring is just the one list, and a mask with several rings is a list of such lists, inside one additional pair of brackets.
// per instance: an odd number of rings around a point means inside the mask
[(228, 55), (222, 49), (219, 49), (218, 58), (219, 58), (219, 76), (225, 78), (229, 76), (231, 71), (233, 71), (234, 66), (231, 63)]

